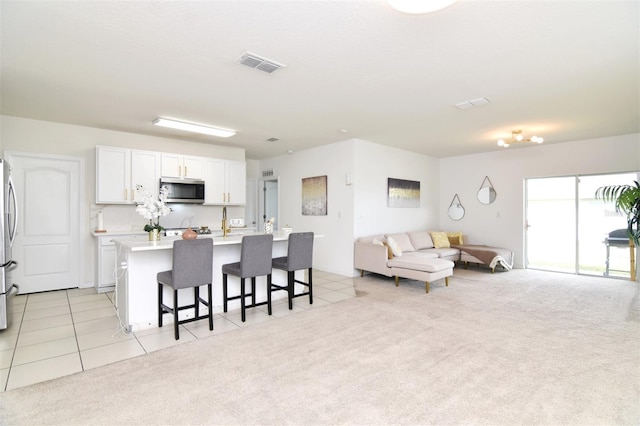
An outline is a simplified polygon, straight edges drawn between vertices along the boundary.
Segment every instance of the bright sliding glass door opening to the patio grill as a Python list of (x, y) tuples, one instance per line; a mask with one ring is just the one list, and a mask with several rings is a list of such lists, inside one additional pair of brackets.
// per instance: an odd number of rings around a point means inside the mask
[(628, 241), (609, 238), (626, 220), (594, 194), (634, 180), (637, 173), (527, 179), (527, 267), (629, 278)]

